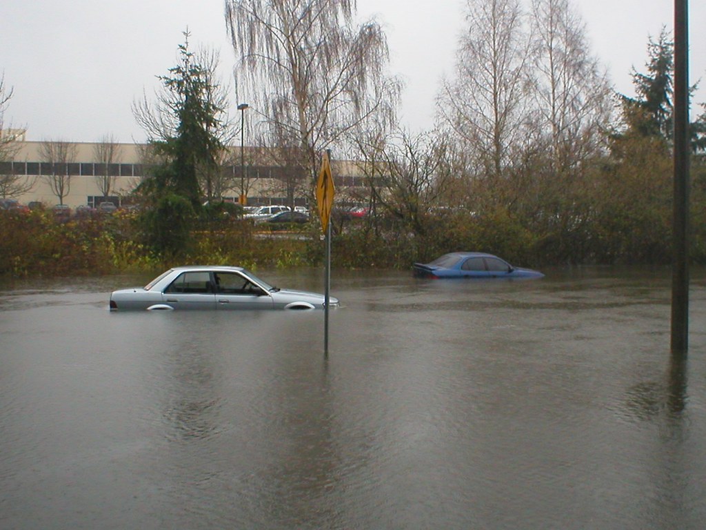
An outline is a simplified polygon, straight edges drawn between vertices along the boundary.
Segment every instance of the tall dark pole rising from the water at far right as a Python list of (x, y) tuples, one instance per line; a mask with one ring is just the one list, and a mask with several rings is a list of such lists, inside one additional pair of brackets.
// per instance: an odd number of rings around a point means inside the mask
[(674, 258), (671, 351), (686, 355), (689, 334), (688, 0), (674, 0)]

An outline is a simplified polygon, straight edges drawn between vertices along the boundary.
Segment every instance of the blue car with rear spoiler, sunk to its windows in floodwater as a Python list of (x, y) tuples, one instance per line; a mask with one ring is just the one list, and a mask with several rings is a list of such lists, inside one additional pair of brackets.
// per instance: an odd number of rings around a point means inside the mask
[(542, 278), (544, 274), (522, 269), (483, 252), (451, 252), (431, 261), (415, 263), (412, 272), (417, 278)]

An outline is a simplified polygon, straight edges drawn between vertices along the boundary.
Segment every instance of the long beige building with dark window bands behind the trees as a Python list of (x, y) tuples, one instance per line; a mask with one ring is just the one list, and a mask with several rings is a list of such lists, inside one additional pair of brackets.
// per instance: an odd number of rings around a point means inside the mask
[[(117, 206), (128, 200), (133, 189), (147, 175), (145, 165), (147, 146), (136, 143), (109, 144), (114, 148), (112, 158), (106, 158), (101, 153), (106, 144), (101, 143), (61, 143), (64, 148), (70, 146), (70, 156), (59, 160), (68, 160), (63, 164), (47, 162), (47, 146), (45, 142), (24, 141), (20, 139), (18, 149), (11, 160), (0, 162), (0, 178), (3, 175), (13, 175), (13, 178), (23, 179), (26, 184), (32, 184), (30, 189), (21, 194), (8, 195), (8, 198), (18, 199), (22, 204), (42, 203), (51, 207), (59, 204), (59, 197), (52, 189), (52, 174), (61, 171), (68, 175), (66, 179), (63, 204), (76, 208), (77, 206), (97, 206), (104, 201), (102, 181), (109, 177), (111, 187), (108, 199)], [(244, 148), (244, 172), (241, 172), (240, 148), (232, 148), (232, 157), (222, 166), (222, 173), (227, 175), (226, 187), (213, 196), (237, 200), (241, 190), (247, 197), (247, 204), (285, 204), (287, 196), (294, 196), (295, 204), (304, 206), (309, 196), (310, 183), (301, 176), (292, 176), (291, 170), (273, 165), (258, 165), (254, 148)], [(104, 164), (100, 160), (112, 160)], [(54, 158), (56, 160), (56, 157)], [(334, 171), (337, 192), (343, 196), (354, 197), (354, 189), (364, 189), (364, 177), (355, 176), (359, 173), (354, 163), (340, 161)], [(105, 169), (107, 168), (107, 172)], [(241, 175), (242, 173), (242, 175)], [(289, 177), (287, 174), (290, 174)], [(54, 178), (55, 180), (55, 178)], [(104, 184), (103, 184), (104, 187)], [(348, 191), (348, 193), (345, 192)], [(354, 199), (350, 199), (354, 201)]]

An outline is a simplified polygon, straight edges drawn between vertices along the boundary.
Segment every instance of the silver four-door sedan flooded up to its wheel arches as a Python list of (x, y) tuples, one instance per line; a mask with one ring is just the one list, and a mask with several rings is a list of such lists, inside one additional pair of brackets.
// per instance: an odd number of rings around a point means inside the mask
[[(329, 297), (329, 307), (338, 305)], [(145, 287), (110, 295), (110, 310), (300, 310), (321, 309), (325, 296), (273, 287), (242, 267), (183, 266)]]

